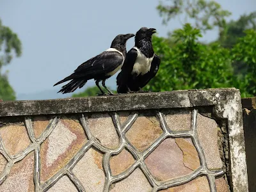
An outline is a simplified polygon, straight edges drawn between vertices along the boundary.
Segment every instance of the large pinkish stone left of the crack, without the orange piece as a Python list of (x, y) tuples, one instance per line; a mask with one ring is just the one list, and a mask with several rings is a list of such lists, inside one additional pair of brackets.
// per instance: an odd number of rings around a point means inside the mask
[(184, 166), (183, 158), (175, 139), (167, 138), (145, 159), (145, 164), (157, 180), (164, 181), (192, 172)]

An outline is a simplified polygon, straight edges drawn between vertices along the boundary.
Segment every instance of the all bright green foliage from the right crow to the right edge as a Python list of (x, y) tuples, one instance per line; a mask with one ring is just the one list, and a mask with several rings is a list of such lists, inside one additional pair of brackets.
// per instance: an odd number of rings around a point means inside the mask
[[(239, 39), (234, 49), (218, 42), (201, 44), (200, 36), (200, 30), (190, 24), (173, 31), (176, 44), (172, 48), (164, 38), (154, 36), (152, 42), (156, 54), (161, 56), (161, 66), (147, 89), (158, 92), (236, 86), (243, 97), (255, 94), (255, 31), (246, 31), (246, 36)], [(248, 65), (250, 72), (245, 77), (234, 74), (232, 63), (237, 61)]]

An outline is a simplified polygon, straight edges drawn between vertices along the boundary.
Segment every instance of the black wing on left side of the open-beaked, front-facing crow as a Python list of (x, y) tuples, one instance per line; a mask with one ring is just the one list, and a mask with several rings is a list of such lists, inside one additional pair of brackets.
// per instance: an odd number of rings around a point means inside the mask
[(117, 92), (125, 93), (127, 92), (127, 81), (129, 81), (129, 77), (132, 73), (132, 68), (138, 56), (138, 52), (136, 49), (131, 49), (127, 52), (127, 56), (124, 61), (124, 65), (122, 66), (121, 72), (116, 77), (117, 84)]

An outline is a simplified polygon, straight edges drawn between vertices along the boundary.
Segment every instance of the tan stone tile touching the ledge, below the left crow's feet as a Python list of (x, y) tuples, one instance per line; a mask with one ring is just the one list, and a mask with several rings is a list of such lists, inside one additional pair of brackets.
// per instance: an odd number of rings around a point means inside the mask
[(111, 116), (108, 113), (95, 113), (88, 119), (89, 128), (100, 143), (109, 148), (117, 148), (120, 141)]

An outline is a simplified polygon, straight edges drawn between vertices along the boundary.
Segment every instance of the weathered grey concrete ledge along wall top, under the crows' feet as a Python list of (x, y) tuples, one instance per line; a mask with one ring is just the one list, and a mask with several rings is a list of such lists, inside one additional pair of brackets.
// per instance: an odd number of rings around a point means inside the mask
[(220, 102), (227, 102), (228, 99), (234, 99), (230, 97), (237, 95), (237, 93), (240, 98), (239, 90), (236, 88), (217, 88), (172, 92), (129, 93), (52, 100), (3, 101), (0, 102), (0, 116), (51, 115), (214, 106), (220, 104)]

